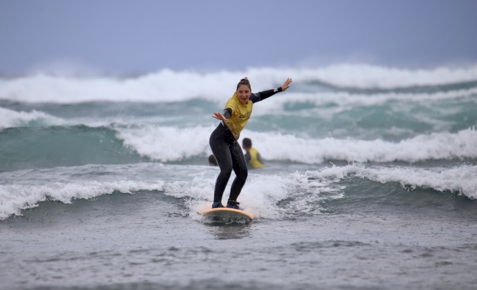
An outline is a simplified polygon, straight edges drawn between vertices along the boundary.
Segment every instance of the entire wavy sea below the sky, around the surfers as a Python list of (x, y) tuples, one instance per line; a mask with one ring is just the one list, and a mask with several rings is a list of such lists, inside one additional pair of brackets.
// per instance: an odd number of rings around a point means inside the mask
[[(248, 77), (266, 167), (211, 220)], [(230, 185), (224, 194), (227, 200)], [(475, 290), (477, 65), (0, 77), (1, 290)]]

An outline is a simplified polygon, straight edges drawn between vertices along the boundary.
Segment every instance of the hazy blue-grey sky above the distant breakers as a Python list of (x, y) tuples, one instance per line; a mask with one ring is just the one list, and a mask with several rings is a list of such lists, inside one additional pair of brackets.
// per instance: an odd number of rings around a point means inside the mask
[(477, 0), (0, 0), (0, 74), (477, 63)]

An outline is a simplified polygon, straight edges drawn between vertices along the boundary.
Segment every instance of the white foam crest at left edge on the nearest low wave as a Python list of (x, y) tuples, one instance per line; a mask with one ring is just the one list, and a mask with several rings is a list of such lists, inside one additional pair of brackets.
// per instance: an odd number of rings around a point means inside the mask
[(115, 190), (134, 193), (139, 190), (162, 190), (162, 181), (146, 182), (120, 180), (114, 182), (89, 181), (84, 183), (56, 182), (47, 185), (0, 185), (0, 220), (10, 215), (21, 215), (21, 210), (34, 208), (46, 200), (71, 203), (73, 199), (89, 199)]

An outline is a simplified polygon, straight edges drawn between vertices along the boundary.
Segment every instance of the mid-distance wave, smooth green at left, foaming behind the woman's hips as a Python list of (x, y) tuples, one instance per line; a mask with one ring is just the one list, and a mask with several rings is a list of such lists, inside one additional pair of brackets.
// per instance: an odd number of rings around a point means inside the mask
[[(8, 128), (0, 131), (0, 171), (85, 164), (125, 164), (141, 161), (192, 162), (212, 154), (211, 126), (157, 124), (88, 127)], [(476, 159), (477, 130), (419, 134), (400, 141), (357, 138), (311, 138), (279, 131), (244, 129), (267, 161), (321, 164), (348, 162), (408, 162)], [(241, 139), (239, 139), (241, 144)]]

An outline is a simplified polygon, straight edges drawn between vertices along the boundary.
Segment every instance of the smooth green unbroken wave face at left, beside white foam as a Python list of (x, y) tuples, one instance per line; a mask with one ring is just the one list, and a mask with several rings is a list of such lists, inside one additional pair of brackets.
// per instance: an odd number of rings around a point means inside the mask
[(141, 162), (115, 134), (110, 127), (85, 125), (5, 128), (0, 130), (0, 172)]

